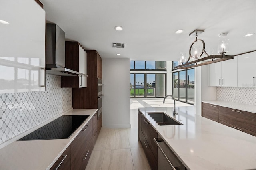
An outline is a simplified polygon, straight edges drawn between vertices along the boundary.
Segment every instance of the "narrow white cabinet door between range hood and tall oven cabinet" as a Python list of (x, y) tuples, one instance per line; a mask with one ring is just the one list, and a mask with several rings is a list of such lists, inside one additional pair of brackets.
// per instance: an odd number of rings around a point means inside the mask
[[(79, 46), (79, 73), (87, 75), (87, 54), (82, 47)], [(87, 87), (87, 77), (80, 75), (79, 87)]]

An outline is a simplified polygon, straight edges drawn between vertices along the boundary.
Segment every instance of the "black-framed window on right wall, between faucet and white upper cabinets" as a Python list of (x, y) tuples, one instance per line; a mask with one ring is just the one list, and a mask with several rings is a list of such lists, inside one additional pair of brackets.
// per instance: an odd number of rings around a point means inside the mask
[[(174, 62), (173, 62), (174, 66)], [(172, 95), (176, 100), (194, 104), (195, 100), (195, 69), (172, 73)]]

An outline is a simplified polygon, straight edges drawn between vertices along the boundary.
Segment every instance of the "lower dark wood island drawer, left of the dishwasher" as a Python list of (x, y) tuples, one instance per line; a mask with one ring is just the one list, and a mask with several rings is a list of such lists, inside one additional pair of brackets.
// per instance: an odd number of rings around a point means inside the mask
[(142, 144), (142, 148), (145, 152), (145, 155), (148, 159), (148, 163), (150, 164), (151, 169), (157, 170), (157, 157), (154, 156), (154, 154), (153, 154), (153, 152), (143, 134), (141, 134), (140, 142)]

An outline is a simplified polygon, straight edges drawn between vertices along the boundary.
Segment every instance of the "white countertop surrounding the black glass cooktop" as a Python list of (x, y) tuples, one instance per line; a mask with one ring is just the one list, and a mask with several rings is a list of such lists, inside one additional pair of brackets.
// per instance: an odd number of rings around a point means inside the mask
[[(71, 144), (78, 133), (82, 130), (82, 128), (84, 128), (86, 123), (90, 121), (97, 110), (98, 109), (74, 109), (68, 113), (65, 113), (64, 115), (90, 115), (68, 139), (16, 141), (12, 142), (8, 146), (5, 146), (0, 150), (0, 169), (50, 169), (61, 154), (66, 150), (69, 144)], [(60, 117), (60, 115), (58, 117)], [(56, 119), (58, 117), (56, 117)]]

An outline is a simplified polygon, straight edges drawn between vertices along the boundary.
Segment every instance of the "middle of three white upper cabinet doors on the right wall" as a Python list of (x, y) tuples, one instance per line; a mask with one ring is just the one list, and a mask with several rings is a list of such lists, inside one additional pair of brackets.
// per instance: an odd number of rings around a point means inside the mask
[(237, 57), (220, 63), (221, 85), (224, 87), (237, 87)]

